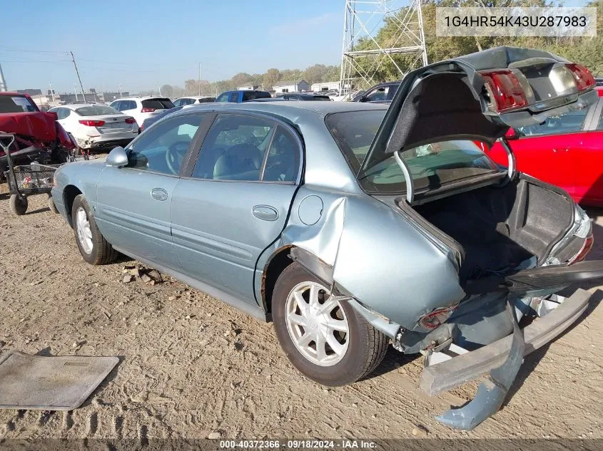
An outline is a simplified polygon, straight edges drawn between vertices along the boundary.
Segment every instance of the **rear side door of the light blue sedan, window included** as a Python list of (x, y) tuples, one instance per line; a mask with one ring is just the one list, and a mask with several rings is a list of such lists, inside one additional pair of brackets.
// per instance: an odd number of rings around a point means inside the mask
[(285, 227), (302, 155), (300, 138), (279, 120), (218, 114), (173, 194), (182, 271), (257, 306), (255, 264)]

